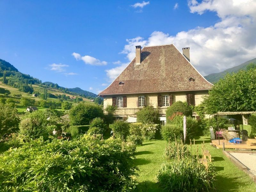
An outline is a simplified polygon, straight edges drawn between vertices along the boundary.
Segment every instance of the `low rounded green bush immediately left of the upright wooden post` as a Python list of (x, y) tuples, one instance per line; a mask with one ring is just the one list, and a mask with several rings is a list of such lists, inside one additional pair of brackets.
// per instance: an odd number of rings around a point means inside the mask
[(174, 124), (165, 124), (161, 127), (161, 135), (164, 140), (174, 140), (175, 138), (179, 138), (183, 135), (183, 130), (180, 127), (177, 127)]

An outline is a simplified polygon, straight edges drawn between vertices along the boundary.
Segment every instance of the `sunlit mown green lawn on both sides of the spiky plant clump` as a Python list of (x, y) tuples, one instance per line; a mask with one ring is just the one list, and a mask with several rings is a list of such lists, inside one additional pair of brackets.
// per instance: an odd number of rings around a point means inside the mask
[[(212, 154), (212, 164), (216, 168), (216, 186), (219, 191), (246, 191), (255, 192), (256, 184), (243, 171), (238, 169), (223, 153), (221, 149), (209, 145), (210, 139), (201, 137), (196, 140), (196, 145), (205, 147)], [(164, 147), (167, 142), (164, 140), (151, 140), (144, 142), (143, 146), (137, 147), (135, 153), (135, 164), (138, 166), (139, 186), (143, 191), (162, 191), (157, 184), (156, 175), (164, 162)]]

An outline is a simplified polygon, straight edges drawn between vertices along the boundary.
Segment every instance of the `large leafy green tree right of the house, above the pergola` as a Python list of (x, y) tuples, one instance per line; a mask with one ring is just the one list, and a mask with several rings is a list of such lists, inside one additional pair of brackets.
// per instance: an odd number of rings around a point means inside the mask
[(256, 68), (227, 74), (212, 87), (203, 104), (208, 114), (256, 110)]

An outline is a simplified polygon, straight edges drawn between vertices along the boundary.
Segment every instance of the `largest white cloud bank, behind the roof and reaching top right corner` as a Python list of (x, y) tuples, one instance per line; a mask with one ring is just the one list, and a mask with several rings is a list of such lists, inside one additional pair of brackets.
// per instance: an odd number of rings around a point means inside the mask
[[(190, 47), (190, 61), (202, 75), (220, 72), (255, 58), (256, 1), (203, 0), (198, 3), (192, 0), (188, 6), (192, 13), (203, 14), (207, 10), (217, 12), (220, 21), (214, 26), (196, 27), (174, 36), (154, 31), (147, 39), (140, 36), (127, 39), (121, 53), (132, 60), (136, 45), (173, 43), (181, 52), (182, 47)], [(122, 68), (109, 69), (107, 76), (115, 79), (124, 68), (123, 64)]]

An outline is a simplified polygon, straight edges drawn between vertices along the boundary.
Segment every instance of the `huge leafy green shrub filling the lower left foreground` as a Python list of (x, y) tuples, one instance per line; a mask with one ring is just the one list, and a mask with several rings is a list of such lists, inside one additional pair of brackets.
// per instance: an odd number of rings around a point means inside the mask
[[(132, 143), (101, 136), (33, 140), (0, 156), (3, 191), (131, 191)], [(28, 163), (29, 162), (29, 163)], [(130, 188), (130, 189), (129, 189)]]

